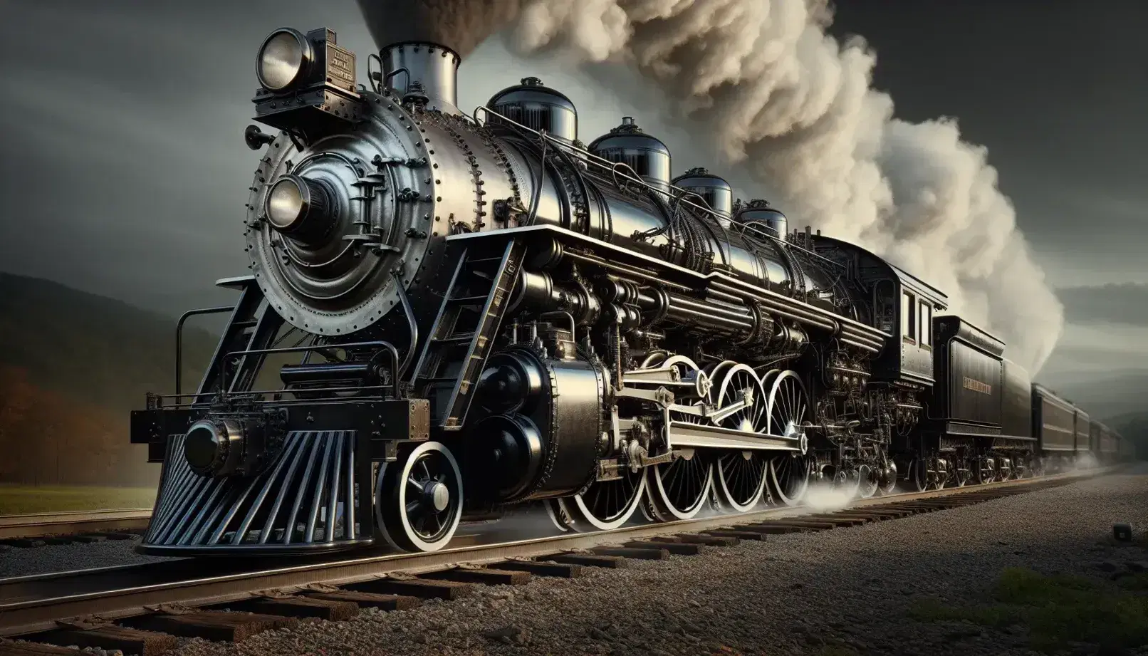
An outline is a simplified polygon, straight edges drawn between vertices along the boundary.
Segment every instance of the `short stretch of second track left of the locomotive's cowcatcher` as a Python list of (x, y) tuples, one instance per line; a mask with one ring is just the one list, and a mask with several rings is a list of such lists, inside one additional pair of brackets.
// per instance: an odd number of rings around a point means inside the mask
[(148, 508), (0, 516), (0, 545), (41, 547), (134, 538), (147, 528)]

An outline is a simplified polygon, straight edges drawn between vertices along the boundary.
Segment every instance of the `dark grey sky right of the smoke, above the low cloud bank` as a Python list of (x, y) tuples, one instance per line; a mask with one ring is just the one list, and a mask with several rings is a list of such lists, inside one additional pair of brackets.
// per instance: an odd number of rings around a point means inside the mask
[(836, 16), (877, 51), (899, 116), (955, 116), (988, 148), (1056, 285), (1146, 269), (1148, 2), (841, 0)]

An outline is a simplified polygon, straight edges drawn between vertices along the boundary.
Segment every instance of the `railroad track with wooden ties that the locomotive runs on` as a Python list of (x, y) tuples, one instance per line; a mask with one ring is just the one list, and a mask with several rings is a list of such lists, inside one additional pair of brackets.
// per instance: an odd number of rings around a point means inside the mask
[[(1071, 473), (859, 500), (845, 509), (774, 508), (736, 516), (644, 524), (602, 533), (481, 543), (429, 554), (357, 554), (265, 561), (176, 559), (0, 579), (0, 656), (75, 656), (65, 646), (150, 656), (176, 636), (238, 641), (303, 618), (343, 620), (359, 608), (412, 608), (455, 600), (482, 585), (581, 576), (633, 559), (691, 556), (740, 540), (897, 519), (1065, 485)], [(224, 610), (227, 609), (227, 610)]]

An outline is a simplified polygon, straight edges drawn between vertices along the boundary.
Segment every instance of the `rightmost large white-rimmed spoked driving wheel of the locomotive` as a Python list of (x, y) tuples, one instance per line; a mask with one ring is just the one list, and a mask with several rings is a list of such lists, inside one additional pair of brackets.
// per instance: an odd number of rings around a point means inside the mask
[(769, 417), (768, 433), (796, 440), (798, 450), (774, 456), (769, 461), (769, 487), (773, 495), (785, 505), (794, 505), (809, 487), (812, 458), (809, 440), (805, 434), (809, 403), (805, 385), (794, 371), (783, 371), (773, 377), (766, 402)]

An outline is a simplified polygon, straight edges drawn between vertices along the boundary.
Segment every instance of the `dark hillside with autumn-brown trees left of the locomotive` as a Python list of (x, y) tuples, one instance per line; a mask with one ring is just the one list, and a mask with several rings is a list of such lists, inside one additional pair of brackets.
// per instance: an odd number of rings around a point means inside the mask
[[(0, 483), (149, 485), (127, 442), (145, 393), (173, 388), (176, 318), (56, 283), (0, 273)], [(184, 386), (216, 338), (188, 327)]]

